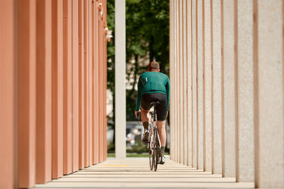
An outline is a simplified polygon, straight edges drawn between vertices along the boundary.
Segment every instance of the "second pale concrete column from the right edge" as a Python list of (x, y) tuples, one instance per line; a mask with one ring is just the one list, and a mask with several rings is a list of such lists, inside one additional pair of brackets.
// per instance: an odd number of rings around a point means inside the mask
[(253, 1), (237, 4), (236, 181), (254, 180), (253, 166)]

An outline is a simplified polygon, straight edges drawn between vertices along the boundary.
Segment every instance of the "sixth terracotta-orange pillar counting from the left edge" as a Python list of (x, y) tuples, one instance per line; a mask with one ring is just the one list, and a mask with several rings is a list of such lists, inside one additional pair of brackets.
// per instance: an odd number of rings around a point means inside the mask
[(78, 1), (72, 1), (72, 171), (79, 169)]

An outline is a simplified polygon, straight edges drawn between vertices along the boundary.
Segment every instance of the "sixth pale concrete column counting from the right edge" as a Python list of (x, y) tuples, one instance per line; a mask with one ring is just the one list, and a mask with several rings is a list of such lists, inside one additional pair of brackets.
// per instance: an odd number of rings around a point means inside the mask
[(203, 167), (203, 1), (196, 3), (197, 19), (197, 169)]

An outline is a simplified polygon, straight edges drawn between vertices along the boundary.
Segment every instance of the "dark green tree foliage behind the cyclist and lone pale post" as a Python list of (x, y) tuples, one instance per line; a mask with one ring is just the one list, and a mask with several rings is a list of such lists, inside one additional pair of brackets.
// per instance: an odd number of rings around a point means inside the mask
[[(114, 33), (114, 0), (107, 1), (107, 22), (109, 30)], [(108, 88), (114, 95), (114, 38), (108, 44)], [(169, 2), (165, 0), (126, 0), (126, 79), (134, 74), (131, 90), (126, 92), (127, 120), (135, 120), (136, 76), (146, 71), (139, 67), (138, 59), (149, 56), (160, 63), (160, 69), (168, 74), (169, 64)], [(131, 63), (131, 59), (135, 63)], [(147, 61), (148, 63), (148, 61)], [(114, 96), (113, 96), (114, 97)], [(114, 99), (114, 98), (113, 98)], [(115, 101), (115, 99), (114, 99)], [(113, 127), (114, 118), (109, 118), (109, 126)]]

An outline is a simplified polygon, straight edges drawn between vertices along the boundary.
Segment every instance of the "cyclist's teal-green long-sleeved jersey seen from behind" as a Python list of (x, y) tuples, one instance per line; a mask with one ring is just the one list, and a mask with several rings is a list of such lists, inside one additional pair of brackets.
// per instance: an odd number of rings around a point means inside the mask
[(138, 97), (136, 101), (137, 111), (140, 109), (142, 95), (146, 93), (164, 93), (167, 95), (169, 108), (170, 79), (168, 76), (156, 71), (147, 71), (141, 74), (138, 81)]

